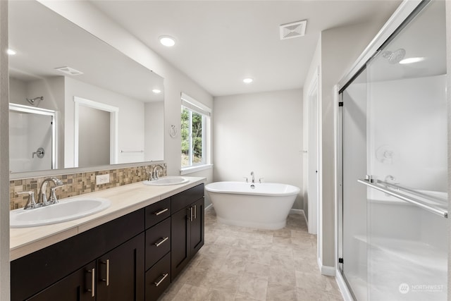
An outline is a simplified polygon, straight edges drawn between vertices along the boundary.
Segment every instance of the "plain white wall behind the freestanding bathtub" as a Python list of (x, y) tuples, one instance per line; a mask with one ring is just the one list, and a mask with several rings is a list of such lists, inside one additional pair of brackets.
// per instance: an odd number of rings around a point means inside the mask
[[(214, 179), (302, 187), (302, 90), (214, 99)], [(302, 209), (302, 195), (294, 205)]]

